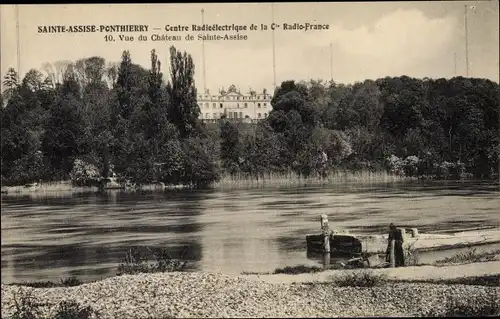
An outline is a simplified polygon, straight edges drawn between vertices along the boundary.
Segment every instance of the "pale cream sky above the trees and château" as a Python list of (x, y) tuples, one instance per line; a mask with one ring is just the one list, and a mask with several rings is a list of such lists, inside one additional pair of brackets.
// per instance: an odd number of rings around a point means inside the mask
[[(450, 78), (466, 73), (464, 6), (468, 9), (469, 76), (499, 82), (498, 1), (277, 3), (278, 24), (329, 24), (325, 31), (276, 30), (276, 80), (330, 79), (330, 43), (333, 79), (352, 83), (385, 76)], [(270, 3), (249, 4), (71, 4), (20, 5), (21, 73), (41, 69), (45, 62), (75, 61), (101, 56), (119, 61), (129, 50), (132, 61), (150, 67), (155, 49), (168, 72), (168, 48), (175, 45), (193, 56), (195, 80), (203, 89), (202, 41), (153, 42), (154, 33), (166, 34), (165, 25), (247, 25), (272, 23)], [(17, 68), (16, 15), (13, 5), (1, 5), (1, 74)], [(105, 33), (38, 34), (42, 25), (149, 25), (147, 42), (105, 42)], [(169, 32), (169, 35), (224, 32)], [(231, 32), (228, 32), (231, 33)], [(211, 93), (235, 84), (272, 90), (273, 46), (271, 31), (247, 31), (246, 41), (205, 41), (206, 87)], [(124, 33), (135, 38), (140, 33)], [(113, 34), (115, 38), (118, 33)], [(456, 59), (455, 59), (456, 56)], [(455, 62), (456, 61), (456, 62)]]

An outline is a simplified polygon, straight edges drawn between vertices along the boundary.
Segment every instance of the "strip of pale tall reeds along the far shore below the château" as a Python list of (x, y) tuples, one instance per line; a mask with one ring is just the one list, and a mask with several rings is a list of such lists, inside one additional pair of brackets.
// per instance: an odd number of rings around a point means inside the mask
[(333, 171), (325, 177), (311, 176), (304, 177), (295, 172), (287, 173), (266, 173), (255, 176), (245, 174), (223, 174), (218, 182), (213, 184), (214, 188), (254, 188), (266, 186), (309, 186), (328, 185), (350, 182), (397, 182), (407, 180), (407, 178), (392, 175), (387, 172), (370, 171)]

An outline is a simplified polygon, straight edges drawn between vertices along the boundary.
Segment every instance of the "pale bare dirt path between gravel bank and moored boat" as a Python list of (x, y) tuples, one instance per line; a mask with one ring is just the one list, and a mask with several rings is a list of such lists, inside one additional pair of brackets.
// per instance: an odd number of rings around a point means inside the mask
[[(349, 272), (363, 271), (354, 270), (327, 270), (313, 274), (277, 274), (277, 275), (245, 275), (247, 279), (272, 282), (272, 283), (292, 283), (292, 282), (328, 282), (334, 276), (345, 275)], [(373, 269), (374, 273), (386, 274), (392, 280), (436, 280), (455, 279), (460, 277), (473, 277), (482, 275), (500, 274), (500, 261), (490, 261), (482, 263), (471, 263), (464, 265), (450, 266), (416, 266), (404, 268)]]

